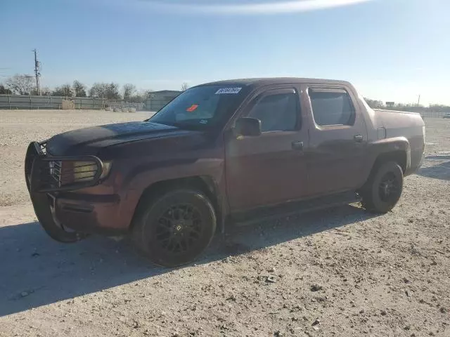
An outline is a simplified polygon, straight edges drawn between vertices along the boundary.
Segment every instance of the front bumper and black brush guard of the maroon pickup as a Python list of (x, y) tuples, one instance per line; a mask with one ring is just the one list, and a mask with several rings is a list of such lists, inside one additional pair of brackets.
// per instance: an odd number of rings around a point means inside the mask
[[(95, 161), (98, 172), (89, 181), (64, 184), (51, 176), (52, 161)], [(25, 157), (25, 180), (34, 212), (44, 230), (57, 241), (75, 242), (84, 234), (117, 235), (129, 222), (120, 212), (118, 194), (81, 194), (79, 190), (100, 183), (103, 163), (94, 156), (54, 157), (45, 143), (30, 143)]]

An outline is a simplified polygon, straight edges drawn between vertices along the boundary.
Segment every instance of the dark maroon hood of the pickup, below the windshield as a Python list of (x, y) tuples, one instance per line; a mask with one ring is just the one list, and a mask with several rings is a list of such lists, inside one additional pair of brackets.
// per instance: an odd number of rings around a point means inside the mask
[(47, 141), (46, 151), (53, 156), (96, 154), (100, 148), (134, 140), (181, 136), (195, 131), (181, 130), (175, 126), (133, 121), (80, 128), (53, 136)]

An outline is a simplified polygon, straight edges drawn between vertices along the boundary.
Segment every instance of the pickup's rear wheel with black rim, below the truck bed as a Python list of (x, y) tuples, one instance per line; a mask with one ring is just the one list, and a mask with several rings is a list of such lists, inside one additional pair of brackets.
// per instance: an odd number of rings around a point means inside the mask
[(391, 211), (401, 197), (403, 170), (394, 161), (380, 164), (359, 191), (364, 209), (372, 213)]

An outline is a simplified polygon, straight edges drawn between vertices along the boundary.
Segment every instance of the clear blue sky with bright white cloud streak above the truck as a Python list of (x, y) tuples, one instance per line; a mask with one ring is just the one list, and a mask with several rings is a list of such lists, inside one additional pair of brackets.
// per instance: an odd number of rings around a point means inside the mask
[(450, 105), (449, 0), (0, 0), (0, 82), (32, 74), (179, 90), (246, 77), (351, 81)]

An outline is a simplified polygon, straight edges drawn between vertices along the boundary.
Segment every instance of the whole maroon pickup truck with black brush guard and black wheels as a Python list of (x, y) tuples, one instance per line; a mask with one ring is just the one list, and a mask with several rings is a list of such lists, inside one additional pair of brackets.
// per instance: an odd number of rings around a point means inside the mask
[(390, 211), (424, 138), (420, 114), (374, 111), (347, 81), (217, 81), (146, 121), (31, 143), (25, 178), (53, 239), (131, 234), (153, 263), (176, 266), (232, 223), (356, 200)]

